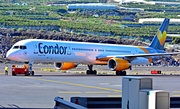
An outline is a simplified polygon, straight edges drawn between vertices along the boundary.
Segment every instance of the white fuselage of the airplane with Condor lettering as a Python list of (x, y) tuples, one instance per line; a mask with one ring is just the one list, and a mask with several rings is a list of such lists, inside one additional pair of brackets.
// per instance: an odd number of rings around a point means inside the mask
[[(26, 47), (25, 49), (19, 49)], [(21, 47), (22, 46), (22, 47)], [(156, 53), (146, 47), (149, 53)], [(146, 54), (141, 47), (100, 43), (27, 39), (17, 42), (8, 51), (7, 57), (15, 61), (31, 62), (74, 62), (82, 64), (107, 64), (97, 60), (97, 56)], [(148, 64), (143, 57), (133, 59), (131, 64)]]

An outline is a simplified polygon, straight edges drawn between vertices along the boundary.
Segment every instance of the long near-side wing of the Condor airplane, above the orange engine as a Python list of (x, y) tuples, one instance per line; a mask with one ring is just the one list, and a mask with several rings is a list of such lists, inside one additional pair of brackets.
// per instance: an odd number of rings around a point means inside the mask
[(145, 57), (150, 58), (152, 56), (167, 56), (167, 55), (177, 55), (180, 52), (171, 52), (171, 53), (149, 53), (149, 54), (130, 54), (130, 55), (104, 55), (104, 56), (97, 56), (97, 60), (101, 61), (108, 61), (110, 58), (125, 58), (125, 59), (134, 59), (136, 57)]

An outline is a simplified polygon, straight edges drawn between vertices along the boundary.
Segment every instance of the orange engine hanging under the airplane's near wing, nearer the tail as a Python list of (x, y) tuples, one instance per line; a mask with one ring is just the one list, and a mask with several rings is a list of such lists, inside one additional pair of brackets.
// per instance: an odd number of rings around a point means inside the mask
[(130, 63), (121, 58), (111, 58), (108, 61), (108, 68), (113, 71), (122, 71), (130, 68)]

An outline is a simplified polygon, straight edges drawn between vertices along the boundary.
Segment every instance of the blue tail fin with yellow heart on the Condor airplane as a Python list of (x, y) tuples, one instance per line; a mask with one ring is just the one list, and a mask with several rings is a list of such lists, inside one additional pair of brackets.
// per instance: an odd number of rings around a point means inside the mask
[(167, 37), (169, 21), (170, 19), (168, 18), (164, 19), (149, 47), (152, 47), (157, 50), (164, 50), (164, 44)]

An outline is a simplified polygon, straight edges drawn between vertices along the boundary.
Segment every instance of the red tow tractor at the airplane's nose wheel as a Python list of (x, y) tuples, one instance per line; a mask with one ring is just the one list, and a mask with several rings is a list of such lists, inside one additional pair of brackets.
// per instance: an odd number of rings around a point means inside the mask
[(24, 65), (12, 65), (12, 76), (16, 76), (17, 74), (24, 74), (25, 76), (34, 75), (34, 71), (32, 71), (31, 67), (28, 64)]

